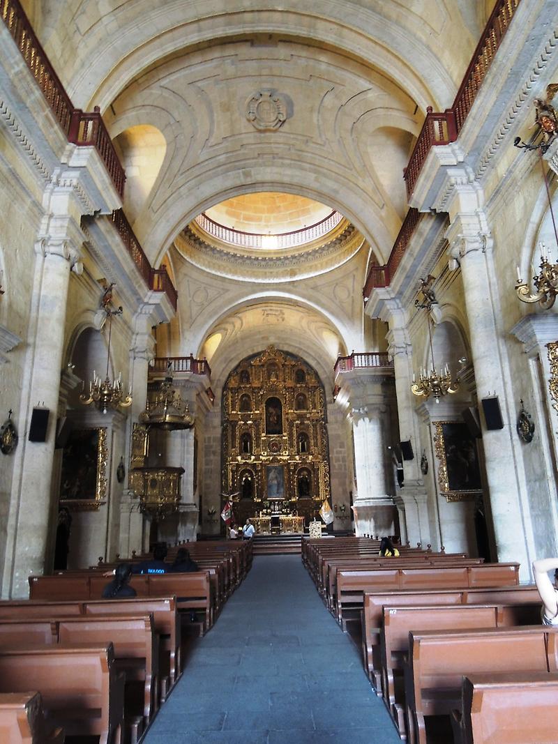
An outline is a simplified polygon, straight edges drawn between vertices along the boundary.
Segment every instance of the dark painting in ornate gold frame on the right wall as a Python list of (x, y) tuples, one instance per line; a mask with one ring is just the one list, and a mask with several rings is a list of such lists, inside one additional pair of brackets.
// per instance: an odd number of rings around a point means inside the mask
[(482, 493), (475, 438), (458, 421), (436, 421), (432, 426), (440, 496), (446, 501), (474, 499)]

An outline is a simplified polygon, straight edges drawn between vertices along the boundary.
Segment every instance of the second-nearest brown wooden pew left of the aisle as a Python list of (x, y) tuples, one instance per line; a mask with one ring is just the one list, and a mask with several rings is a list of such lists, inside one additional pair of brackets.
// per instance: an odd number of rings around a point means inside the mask
[(0, 693), (38, 687), (48, 720), (66, 736), (98, 736), (123, 744), (124, 676), (117, 675), (112, 644), (0, 650)]

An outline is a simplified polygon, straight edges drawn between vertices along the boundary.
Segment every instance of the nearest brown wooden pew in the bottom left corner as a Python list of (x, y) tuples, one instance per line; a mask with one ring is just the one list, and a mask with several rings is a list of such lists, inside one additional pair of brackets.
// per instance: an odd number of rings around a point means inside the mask
[[(47, 733), (48, 732), (48, 733)], [(2, 744), (63, 744), (64, 730), (49, 731), (40, 693), (0, 694)]]

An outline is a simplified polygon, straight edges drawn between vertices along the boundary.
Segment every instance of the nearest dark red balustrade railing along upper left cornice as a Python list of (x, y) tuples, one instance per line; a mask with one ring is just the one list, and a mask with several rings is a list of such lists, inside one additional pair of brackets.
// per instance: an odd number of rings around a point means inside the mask
[(81, 109), (74, 108), (19, 0), (0, 0), (0, 16), (68, 141), (80, 147), (94, 147), (103, 160), (115, 189), (123, 196), (126, 181), (124, 168), (118, 160), (97, 106), (93, 113), (84, 113)]

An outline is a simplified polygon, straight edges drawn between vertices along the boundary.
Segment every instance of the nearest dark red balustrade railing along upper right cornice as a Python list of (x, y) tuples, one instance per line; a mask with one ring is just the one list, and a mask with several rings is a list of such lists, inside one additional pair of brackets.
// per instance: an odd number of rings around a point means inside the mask
[(408, 166), (403, 172), (408, 199), (411, 199), (430, 148), (437, 144), (455, 142), (458, 138), (472, 104), (475, 102), (478, 90), (496, 56), (496, 51), (510, 26), (519, 1), (496, 1), (451, 109), (446, 109), (443, 113), (433, 113), (431, 107), (426, 109), (423, 129), (420, 131)]

